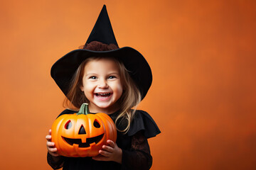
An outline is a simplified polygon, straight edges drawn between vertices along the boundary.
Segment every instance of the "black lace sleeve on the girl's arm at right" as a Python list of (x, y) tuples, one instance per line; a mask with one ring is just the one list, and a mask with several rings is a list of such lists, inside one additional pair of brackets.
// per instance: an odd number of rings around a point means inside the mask
[(122, 170), (146, 170), (152, 165), (149, 143), (142, 131), (132, 136), (132, 145), (129, 150), (122, 150)]

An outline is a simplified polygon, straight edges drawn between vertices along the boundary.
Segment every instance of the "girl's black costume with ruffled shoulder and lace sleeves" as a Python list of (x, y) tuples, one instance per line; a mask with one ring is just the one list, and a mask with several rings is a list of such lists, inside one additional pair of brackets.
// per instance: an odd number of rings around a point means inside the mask
[[(60, 113), (60, 115), (73, 113), (76, 113), (76, 111), (66, 109)], [(119, 111), (110, 114), (113, 121), (117, 118), (118, 114)], [(126, 122), (123, 120), (117, 123), (117, 128), (122, 129), (125, 124)], [(145, 111), (136, 111), (134, 120), (127, 134), (117, 131), (117, 146), (122, 149), (122, 164), (118, 164), (117, 162), (95, 161), (92, 157), (61, 157), (60, 162), (54, 163), (50, 154), (47, 155), (47, 161), (53, 169), (63, 167), (63, 170), (150, 169), (152, 157), (147, 139), (159, 133), (159, 128), (148, 113)]]

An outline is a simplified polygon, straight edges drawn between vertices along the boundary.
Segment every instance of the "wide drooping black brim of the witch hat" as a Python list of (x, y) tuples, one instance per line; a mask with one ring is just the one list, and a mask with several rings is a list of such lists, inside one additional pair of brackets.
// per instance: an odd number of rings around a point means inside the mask
[(88, 57), (117, 57), (124, 63), (130, 76), (137, 84), (142, 99), (152, 83), (152, 73), (148, 62), (140, 52), (132, 47), (122, 47), (110, 51), (73, 50), (61, 57), (50, 70), (50, 75), (65, 95), (68, 94), (70, 81), (79, 65)]

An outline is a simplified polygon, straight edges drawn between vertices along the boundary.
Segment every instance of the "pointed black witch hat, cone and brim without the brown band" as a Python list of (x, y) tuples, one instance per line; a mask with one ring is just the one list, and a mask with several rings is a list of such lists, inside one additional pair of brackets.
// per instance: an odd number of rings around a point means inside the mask
[[(117, 45), (117, 40), (114, 37), (114, 32), (105, 5), (103, 6), (100, 16), (97, 18), (95, 26), (85, 44), (92, 41), (102, 42), (107, 45)], [(68, 54), (61, 57), (55, 64), (53, 64), (53, 67), (50, 70), (50, 75), (65, 95), (68, 94), (70, 81), (73, 74), (75, 74), (76, 69), (78, 69), (79, 65), (85, 59), (92, 56), (117, 57), (118, 60), (124, 63), (124, 67), (126, 67), (135, 84), (137, 84), (139, 91), (142, 94), (142, 99), (146, 96), (152, 83), (151, 69), (142, 54), (132, 47), (122, 47), (117, 50), (108, 51), (79, 49), (68, 52)]]

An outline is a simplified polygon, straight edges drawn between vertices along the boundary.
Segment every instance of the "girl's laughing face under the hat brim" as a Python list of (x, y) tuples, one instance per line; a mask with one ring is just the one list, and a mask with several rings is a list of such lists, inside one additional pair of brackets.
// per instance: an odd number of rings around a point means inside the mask
[(90, 101), (91, 112), (110, 114), (117, 111), (117, 101), (123, 91), (117, 63), (110, 59), (87, 62), (80, 89)]

